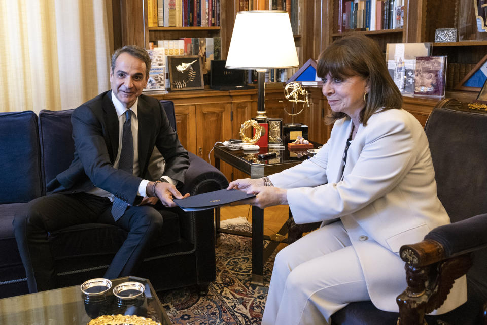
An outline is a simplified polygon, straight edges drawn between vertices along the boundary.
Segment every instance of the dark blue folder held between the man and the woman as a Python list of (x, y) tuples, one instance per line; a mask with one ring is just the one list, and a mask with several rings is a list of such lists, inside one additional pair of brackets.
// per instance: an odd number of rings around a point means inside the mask
[(186, 199), (174, 199), (174, 202), (184, 211), (198, 211), (213, 209), (218, 206), (253, 197), (255, 197), (255, 194), (247, 194), (238, 189), (221, 189), (214, 192), (197, 194)]

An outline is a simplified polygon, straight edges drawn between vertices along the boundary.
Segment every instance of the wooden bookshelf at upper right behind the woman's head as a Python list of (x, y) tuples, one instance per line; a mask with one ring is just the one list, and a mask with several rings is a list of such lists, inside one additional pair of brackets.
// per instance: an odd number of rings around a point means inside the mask
[[(324, 22), (328, 30), (324, 32), (325, 47), (341, 37), (338, 32), (338, 9), (343, 0), (323, 0), (325, 12), (332, 17)], [(372, 0), (373, 1), (373, 0)], [(356, 31), (377, 41), (384, 53), (387, 43), (431, 42), (432, 55), (446, 55), (447, 78), (454, 66), (475, 66), (487, 53), (487, 32), (479, 33), (475, 20), (474, 4), (465, 0), (404, 0), (404, 27), (374, 31)], [(437, 28), (457, 28), (458, 41), (435, 43)], [(468, 71), (464, 72), (468, 73)], [(456, 80), (462, 76), (456, 76)], [(446, 97), (462, 101), (475, 101), (476, 91), (454, 89), (457, 84), (447, 83)], [(408, 105), (427, 103), (426, 99), (404, 98)], [(429, 106), (428, 103), (427, 106)]]

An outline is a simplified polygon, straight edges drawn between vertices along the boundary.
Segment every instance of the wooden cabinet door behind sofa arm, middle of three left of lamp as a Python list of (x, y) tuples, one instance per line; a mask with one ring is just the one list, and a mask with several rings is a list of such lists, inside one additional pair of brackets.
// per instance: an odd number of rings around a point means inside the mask
[[(196, 105), (196, 147), (197, 155), (208, 161), (208, 153), (215, 142), (225, 141), (232, 136), (230, 121), (232, 105), (230, 103), (212, 103)], [(211, 154), (211, 163), (215, 166), (215, 157)], [(228, 179), (231, 179), (232, 168), (222, 163), (221, 169)]]

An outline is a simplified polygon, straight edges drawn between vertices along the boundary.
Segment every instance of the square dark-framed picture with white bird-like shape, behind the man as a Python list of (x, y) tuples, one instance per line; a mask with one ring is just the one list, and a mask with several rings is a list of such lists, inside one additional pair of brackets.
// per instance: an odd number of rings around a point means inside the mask
[(201, 58), (198, 55), (168, 56), (171, 90), (204, 89)]

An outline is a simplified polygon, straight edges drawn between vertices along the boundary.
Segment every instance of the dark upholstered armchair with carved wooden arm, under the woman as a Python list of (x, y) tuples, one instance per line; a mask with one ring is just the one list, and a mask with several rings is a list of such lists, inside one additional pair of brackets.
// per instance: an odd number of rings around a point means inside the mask
[[(335, 313), (333, 325), (487, 325), (487, 105), (445, 99), (431, 112), (425, 132), (438, 197), (451, 224), (401, 247), (407, 288), (397, 297), (399, 313), (356, 302)], [(291, 240), (311, 228), (288, 224)], [(464, 274), (467, 302), (446, 314), (425, 315), (443, 304), (453, 281)]]

